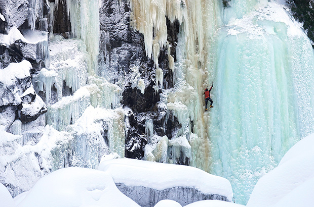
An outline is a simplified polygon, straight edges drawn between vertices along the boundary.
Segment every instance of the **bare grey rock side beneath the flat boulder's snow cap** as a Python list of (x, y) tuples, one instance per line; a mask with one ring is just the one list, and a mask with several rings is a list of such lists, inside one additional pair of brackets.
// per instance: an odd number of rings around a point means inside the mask
[(126, 186), (116, 183), (117, 188), (140, 206), (153, 207), (160, 200), (175, 200), (182, 206), (200, 200), (223, 200), (229, 201), (225, 196), (218, 194), (204, 194), (191, 187), (174, 187), (165, 190), (156, 190), (143, 186)]

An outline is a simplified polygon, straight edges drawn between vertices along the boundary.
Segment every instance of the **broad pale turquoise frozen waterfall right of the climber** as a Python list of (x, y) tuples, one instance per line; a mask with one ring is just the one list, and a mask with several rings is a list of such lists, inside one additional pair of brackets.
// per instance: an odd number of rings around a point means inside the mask
[(224, 11), (213, 73), (216, 105), (208, 122), (210, 172), (230, 180), (240, 203), (314, 128), (309, 39), (281, 5), (262, 1), (248, 9), (249, 4), (232, 1)]

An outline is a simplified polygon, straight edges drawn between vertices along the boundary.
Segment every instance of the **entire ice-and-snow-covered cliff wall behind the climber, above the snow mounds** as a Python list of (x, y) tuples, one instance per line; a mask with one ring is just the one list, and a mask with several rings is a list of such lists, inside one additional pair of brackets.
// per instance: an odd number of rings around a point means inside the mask
[(0, 2), (0, 182), (16, 196), (116, 153), (223, 176), (245, 203), (313, 132), (314, 55), (291, 14), (266, 0)]

